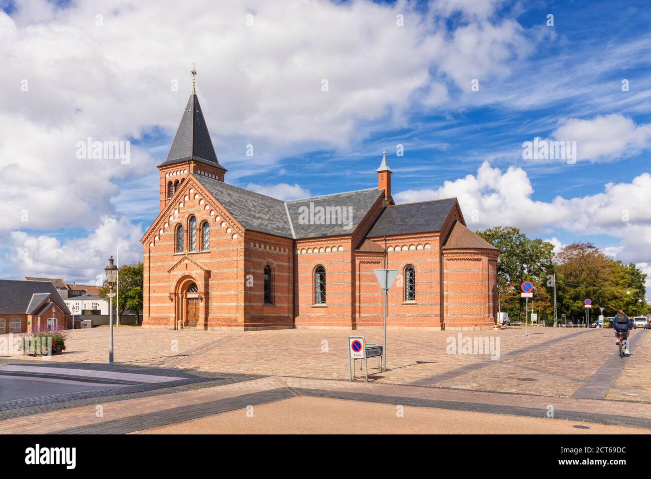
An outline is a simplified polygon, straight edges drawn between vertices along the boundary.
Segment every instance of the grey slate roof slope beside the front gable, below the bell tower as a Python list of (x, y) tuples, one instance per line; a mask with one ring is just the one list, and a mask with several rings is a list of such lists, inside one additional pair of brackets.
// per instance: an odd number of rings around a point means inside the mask
[(292, 237), (292, 228), (283, 201), (203, 175), (194, 177), (246, 229)]

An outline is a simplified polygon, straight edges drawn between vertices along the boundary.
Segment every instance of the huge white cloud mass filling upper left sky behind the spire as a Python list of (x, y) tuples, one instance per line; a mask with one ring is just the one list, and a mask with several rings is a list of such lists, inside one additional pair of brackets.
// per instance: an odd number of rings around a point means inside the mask
[[(470, 10), (478, 16), (458, 28), (440, 18)], [(429, 13), (406, 1), (17, 1), (12, 16), (0, 11), (0, 171), (11, 178), (0, 231), (88, 227), (115, 214), (118, 180), (154, 160), (135, 145), (128, 165), (77, 160), (77, 141), (137, 142), (156, 126), (173, 134), (193, 61), (218, 156), (240, 162), (253, 143), (268, 152), (256, 166), (268, 166), (278, 152), (342, 148), (360, 141), (359, 124), (445, 104), (450, 80), (508, 71), (529, 40), (516, 22), (488, 22), (490, 12), (488, 1)]]

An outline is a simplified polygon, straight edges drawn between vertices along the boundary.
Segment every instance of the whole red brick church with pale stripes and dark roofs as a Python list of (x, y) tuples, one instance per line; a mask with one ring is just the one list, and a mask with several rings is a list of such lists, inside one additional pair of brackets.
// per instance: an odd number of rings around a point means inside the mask
[(495, 326), (499, 253), (465, 226), (456, 198), (395, 205), (385, 156), (377, 188), (281, 201), (232, 186), (193, 91), (158, 169), (144, 327), (380, 326), (376, 268), (399, 274), (389, 327)]

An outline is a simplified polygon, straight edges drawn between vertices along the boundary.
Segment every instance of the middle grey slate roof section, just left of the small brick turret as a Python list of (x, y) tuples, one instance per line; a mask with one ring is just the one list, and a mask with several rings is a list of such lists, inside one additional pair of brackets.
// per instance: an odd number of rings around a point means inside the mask
[[(296, 239), (351, 235), (380, 196), (384, 190), (369, 188), (287, 201)], [(330, 212), (325, 222), (318, 216), (319, 207)]]

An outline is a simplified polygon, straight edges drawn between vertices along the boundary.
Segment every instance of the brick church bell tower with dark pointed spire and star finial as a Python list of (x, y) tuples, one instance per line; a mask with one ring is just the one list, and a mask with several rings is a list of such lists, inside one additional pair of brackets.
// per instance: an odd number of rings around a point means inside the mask
[[(193, 75), (196, 72), (193, 70)], [(176, 130), (176, 136), (167, 160), (158, 165), (160, 171), (160, 210), (174, 196), (189, 173), (206, 175), (224, 181), (228, 171), (219, 164), (212, 146), (208, 126), (199, 105), (199, 98), (192, 83), (192, 93)]]

